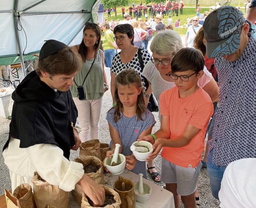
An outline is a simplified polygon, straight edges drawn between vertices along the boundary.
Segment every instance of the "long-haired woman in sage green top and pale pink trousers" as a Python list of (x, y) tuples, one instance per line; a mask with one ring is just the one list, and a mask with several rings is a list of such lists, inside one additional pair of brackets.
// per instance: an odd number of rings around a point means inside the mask
[(81, 55), (84, 64), (81, 72), (77, 72), (74, 77), (74, 85), (70, 87), (70, 91), (82, 128), (79, 136), (85, 142), (90, 139), (89, 130), (91, 139), (99, 137), (102, 96), (108, 90), (108, 81), (104, 71), (104, 53), (99, 49), (100, 27), (86, 22), (83, 33), (82, 42), (72, 48)]

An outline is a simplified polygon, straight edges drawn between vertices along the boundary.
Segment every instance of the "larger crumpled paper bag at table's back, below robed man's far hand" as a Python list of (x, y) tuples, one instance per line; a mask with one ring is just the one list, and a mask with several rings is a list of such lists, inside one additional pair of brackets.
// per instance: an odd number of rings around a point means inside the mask
[(100, 156), (100, 141), (98, 139), (88, 140), (79, 146), (79, 157), (81, 156)]

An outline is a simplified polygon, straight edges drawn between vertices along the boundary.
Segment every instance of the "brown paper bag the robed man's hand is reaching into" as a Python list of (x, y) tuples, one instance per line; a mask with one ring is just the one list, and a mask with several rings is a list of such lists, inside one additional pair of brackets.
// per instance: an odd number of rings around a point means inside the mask
[[(118, 193), (115, 190), (113, 190), (107, 186), (104, 186), (104, 185), (100, 185), (100, 186), (102, 186), (105, 189), (105, 194), (114, 196), (114, 199), (116, 200), (116, 202), (114, 204), (106, 205), (104, 207), (105, 208), (119, 208), (120, 204), (121, 204), (121, 199), (120, 199)], [(86, 195), (83, 193), (81, 208), (89, 208), (89, 207), (92, 207), (92, 206), (88, 203)], [(100, 208), (100, 207), (98, 207), (98, 208)]]

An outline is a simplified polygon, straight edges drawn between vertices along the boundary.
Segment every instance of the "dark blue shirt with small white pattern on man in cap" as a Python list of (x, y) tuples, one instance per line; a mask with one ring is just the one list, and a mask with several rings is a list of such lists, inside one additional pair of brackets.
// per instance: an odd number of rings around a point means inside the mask
[(256, 158), (256, 40), (250, 37), (242, 55), (232, 62), (215, 58), (220, 106), (215, 114), (209, 151), (217, 166), (242, 158)]

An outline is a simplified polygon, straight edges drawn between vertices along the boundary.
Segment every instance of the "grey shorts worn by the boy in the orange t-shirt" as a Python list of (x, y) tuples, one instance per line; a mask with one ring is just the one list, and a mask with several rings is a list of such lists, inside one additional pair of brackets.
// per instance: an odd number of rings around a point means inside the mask
[(160, 180), (164, 183), (177, 183), (177, 193), (188, 196), (196, 191), (202, 163), (195, 168), (177, 166), (162, 158), (162, 171)]

